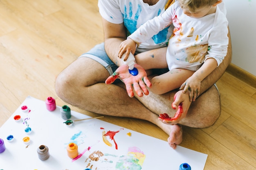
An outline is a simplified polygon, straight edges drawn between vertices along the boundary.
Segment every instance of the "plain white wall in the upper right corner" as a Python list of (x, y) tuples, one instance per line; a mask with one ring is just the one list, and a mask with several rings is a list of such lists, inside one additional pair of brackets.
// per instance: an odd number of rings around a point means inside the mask
[(232, 63), (256, 76), (256, 0), (223, 0), (233, 49)]

